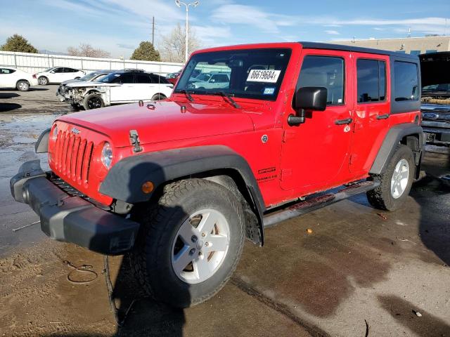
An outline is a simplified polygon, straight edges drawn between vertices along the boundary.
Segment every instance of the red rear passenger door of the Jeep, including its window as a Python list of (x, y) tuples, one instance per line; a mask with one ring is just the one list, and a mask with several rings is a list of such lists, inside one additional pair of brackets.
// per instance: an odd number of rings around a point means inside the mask
[(354, 128), (349, 170), (369, 171), (389, 129), (389, 56), (352, 53), (355, 67)]

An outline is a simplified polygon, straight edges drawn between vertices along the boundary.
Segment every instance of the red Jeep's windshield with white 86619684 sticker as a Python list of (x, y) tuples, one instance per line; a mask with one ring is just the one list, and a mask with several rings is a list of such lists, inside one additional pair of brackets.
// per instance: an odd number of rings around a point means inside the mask
[(174, 92), (276, 100), (290, 53), (286, 48), (264, 48), (195, 54)]

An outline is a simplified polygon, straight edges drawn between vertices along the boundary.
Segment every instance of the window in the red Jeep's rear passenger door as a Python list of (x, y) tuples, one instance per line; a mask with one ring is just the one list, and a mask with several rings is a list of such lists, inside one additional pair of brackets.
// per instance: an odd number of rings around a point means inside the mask
[(358, 103), (380, 102), (386, 98), (386, 64), (384, 61), (356, 61)]

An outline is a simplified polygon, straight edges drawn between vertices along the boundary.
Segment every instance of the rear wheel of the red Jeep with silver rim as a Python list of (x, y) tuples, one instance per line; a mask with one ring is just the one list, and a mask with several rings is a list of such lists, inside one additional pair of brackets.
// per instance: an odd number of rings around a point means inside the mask
[(373, 177), (380, 181), (380, 185), (367, 192), (369, 203), (377, 209), (399, 209), (408, 197), (415, 173), (416, 164), (411, 148), (398, 145), (385, 172)]

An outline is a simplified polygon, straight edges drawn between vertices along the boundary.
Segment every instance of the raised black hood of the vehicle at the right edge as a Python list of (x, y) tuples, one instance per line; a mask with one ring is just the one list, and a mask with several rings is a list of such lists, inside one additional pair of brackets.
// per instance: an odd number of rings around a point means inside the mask
[(450, 83), (450, 72), (442, 71), (450, 67), (450, 51), (419, 55), (422, 86)]

